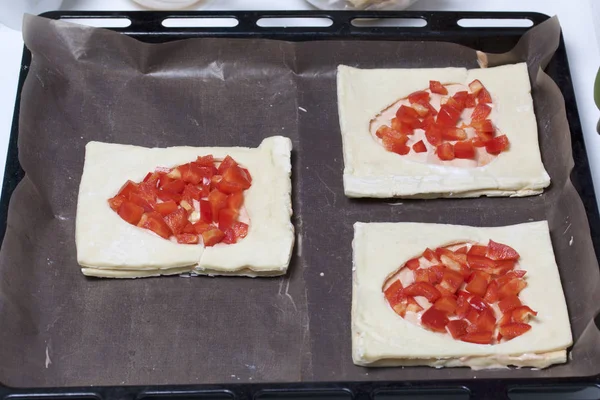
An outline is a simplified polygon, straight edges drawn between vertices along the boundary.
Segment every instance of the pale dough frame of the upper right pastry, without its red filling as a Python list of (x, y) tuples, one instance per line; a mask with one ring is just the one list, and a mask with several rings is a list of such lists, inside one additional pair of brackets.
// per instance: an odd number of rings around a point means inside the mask
[[(510, 149), (490, 164), (455, 168), (422, 164), (391, 153), (369, 133), (382, 110), (429, 80), (468, 84), (479, 79), (491, 93), (490, 118)], [(349, 197), (529, 196), (550, 184), (542, 164), (529, 76), (524, 63), (488, 69), (370, 69), (340, 65), (337, 74), (344, 147), (344, 191)]]

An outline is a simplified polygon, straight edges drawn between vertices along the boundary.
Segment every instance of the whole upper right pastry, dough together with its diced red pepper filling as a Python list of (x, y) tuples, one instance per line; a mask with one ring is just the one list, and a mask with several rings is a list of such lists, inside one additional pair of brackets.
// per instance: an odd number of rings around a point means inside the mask
[(338, 67), (349, 197), (530, 196), (550, 184), (525, 63)]

